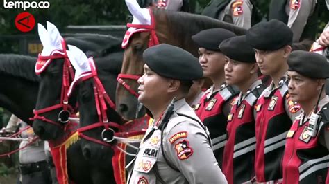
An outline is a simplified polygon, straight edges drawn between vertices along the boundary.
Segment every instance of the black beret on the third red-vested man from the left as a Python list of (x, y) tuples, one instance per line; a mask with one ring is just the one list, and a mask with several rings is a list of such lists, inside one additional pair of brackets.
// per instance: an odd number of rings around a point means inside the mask
[(260, 22), (246, 32), (248, 44), (258, 50), (278, 50), (292, 45), (292, 30), (282, 21)]

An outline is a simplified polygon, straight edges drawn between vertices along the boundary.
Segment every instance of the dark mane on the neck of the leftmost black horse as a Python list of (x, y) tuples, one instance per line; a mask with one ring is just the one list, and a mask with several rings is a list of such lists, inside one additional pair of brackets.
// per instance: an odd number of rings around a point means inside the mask
[(34, 67), (36, 57), (16, 54), (0, 54), (0, 74), (21, 77), (32, 82), (39, 82)]

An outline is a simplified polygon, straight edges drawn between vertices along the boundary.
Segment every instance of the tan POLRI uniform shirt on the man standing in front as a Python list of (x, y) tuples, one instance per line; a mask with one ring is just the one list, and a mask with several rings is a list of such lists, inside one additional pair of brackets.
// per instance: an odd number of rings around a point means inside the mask
[[(155, 169), (165, 183), (227, 183), (203, 125), (177, 115), (183, 113), (199, 120), (193, 109), (185, 99), (178, 100), (174, 106), (175, 113), (162, 133), (164, 150), (160, 149), (161, 131), (154, 123), (146, 131), (135, 160), (126, 167), (128, 183), (160, 183)], [(163, 154), (178, 171), (169, 167)]]

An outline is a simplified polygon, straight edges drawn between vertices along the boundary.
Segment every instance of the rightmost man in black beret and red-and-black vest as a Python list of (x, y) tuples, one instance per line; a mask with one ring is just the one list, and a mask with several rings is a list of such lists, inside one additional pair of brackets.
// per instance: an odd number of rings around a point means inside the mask
[(290, 98), (301, 105), (287, 134), (283, 183), (329, 183), (329, 78), (326, 57), (301, 50), (288, 58)]

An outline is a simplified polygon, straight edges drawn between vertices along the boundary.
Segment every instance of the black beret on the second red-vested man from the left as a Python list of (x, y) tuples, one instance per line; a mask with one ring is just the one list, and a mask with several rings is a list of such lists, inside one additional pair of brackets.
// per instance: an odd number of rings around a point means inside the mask
[(238, 62), (256, 62), (255, 51), (246, 42), (246, 35), (230, 37), (219, 45), (221, 53)]

